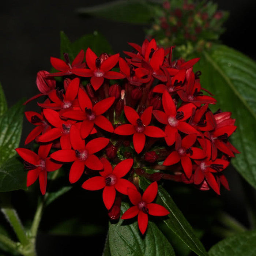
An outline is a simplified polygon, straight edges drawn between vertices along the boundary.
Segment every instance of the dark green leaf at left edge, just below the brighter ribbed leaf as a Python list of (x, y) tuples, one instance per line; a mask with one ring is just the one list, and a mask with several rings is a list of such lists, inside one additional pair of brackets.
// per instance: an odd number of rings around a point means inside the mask
[(0, 192), (27, 189), (27, 173), (18, 157), (12, 157), (0, 167)]

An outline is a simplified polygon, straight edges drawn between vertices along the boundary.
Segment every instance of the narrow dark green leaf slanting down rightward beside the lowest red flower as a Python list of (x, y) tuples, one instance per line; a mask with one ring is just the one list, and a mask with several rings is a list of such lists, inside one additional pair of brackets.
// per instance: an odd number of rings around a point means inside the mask
[[(145, 178), (140, 177), (140, 186), (143, 190), (147, 188), (148, 184)], [(165, 225), (197, 255), (208, 255), (203, 244), (196, 237), (191, 225), (173, 202), (172, 197), (161, 186), (158, 186), (156, 203), (161, 204), (170, 212), (169, 218), (164, 220)]]

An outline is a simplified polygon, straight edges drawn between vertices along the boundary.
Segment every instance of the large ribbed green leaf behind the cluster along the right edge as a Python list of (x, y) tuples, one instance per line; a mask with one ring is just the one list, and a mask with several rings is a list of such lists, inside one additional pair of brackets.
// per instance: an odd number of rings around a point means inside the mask
[(232, 143), (241, 152), (232, 159), (237, 171), (256, 188), (256, 63), (244, 54), (224, 45), (213, 45), (204, 52), (195, 70), (203, 88), (217, 99), (211, 109), (232, 112), (237, 130)]

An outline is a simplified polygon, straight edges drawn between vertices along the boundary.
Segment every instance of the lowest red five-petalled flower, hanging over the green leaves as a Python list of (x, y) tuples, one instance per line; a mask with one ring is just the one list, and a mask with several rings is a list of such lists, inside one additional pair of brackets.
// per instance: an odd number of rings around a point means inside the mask
[(121, 219), (131, 219), (138, 215), (138, 226), (142, 234), (145, 233), (148, 225), (148, 214), (153, 216), (165, 216), (170, 212), (165, 207), (152, 203), (157, 196), (157, 182), (151, 183), (141, 196), (137, 189), (128, 188), (128, 197), (134, 206), (124, 212)]

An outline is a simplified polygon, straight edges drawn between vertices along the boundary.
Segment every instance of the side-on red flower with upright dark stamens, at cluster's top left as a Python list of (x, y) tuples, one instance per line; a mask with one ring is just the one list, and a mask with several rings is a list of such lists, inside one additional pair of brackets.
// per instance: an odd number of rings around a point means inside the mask
[(67, 53), (64, 53), (64, 60), (50, 57), (50, 62), (52, 66), (59, 70), (60, 72), (49, 74), (49, 76), (66, 76), (72, 75), (75, 68), (84, 68), (86, 67), (85, 63), (82, 63), (84, 60), (84, 50), (80, 50), (72, 64), (70, 64), (69, 57)]

